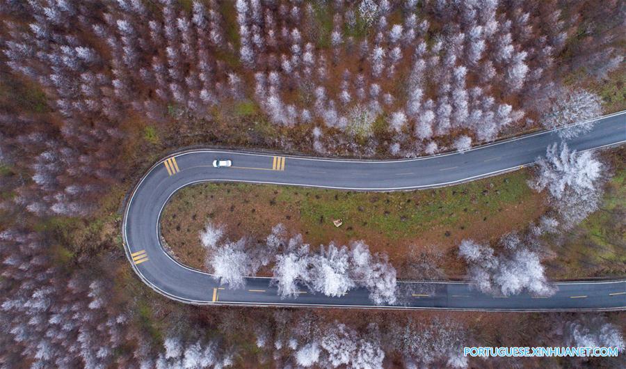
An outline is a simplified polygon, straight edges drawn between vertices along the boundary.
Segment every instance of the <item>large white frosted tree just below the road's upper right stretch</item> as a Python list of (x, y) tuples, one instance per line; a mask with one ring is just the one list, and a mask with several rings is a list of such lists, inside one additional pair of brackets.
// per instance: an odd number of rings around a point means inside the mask
[(546, 157), (537, 159), (533, 189), (547, 189), (561, 223), (570, 228), (591, 214), (600, 203), (604, 166), (592, 152), (570, 151), (566, 143), (552, 144)]

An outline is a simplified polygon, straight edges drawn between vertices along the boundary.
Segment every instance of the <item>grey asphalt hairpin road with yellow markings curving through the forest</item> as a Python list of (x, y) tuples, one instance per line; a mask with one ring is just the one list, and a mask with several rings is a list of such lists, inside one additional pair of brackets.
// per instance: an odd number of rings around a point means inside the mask
[[(400, 281), (399, 304), (376, 306), (364, 289), (326, 297), (302, 288), (281, 299), (269, 278), (248, 277), (246, 287), (218, 285), (214, 276), (175, 261), (160, 242), (159, 217), (168, 199), (197, 182), (254, 182), (368, 191), (425, 189), (484, 178), (533, 164), (558, 132), (539, 132), (449, 153), (403, 160), (340, 160), (268, 155), (228, 150), (191, 150), (155, 164), (136, 186), (125, 210), (122, 234), (133, 269), (155, 291), (191, 304), (255, 306), (335, 306), (424, 308), (483, 311), (615, 310), (626, 308), (626, 279), (556, 283), (556, 294), (538, 298), (483, 295), (459, 282)], [(599, 118), (587, 134), (568, 141), (570, 148), (592, 150), (626, 142), (626, 111)], [(231, 168), (214, 168), (214, 159), (231, 159)]]

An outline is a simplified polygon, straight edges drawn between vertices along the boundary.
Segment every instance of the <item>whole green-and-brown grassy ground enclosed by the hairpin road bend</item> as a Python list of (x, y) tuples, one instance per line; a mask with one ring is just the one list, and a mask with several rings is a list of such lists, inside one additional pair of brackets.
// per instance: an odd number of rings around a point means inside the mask
[[(264, 240), (277, 223), (315, 246), (365, 240), (394, 265), (409, 252), (442, 251), (448, 254), (442, 267), (456, 275), (463, 273), (454, 256), (460, 240), (495, 240), (545, 212), (543, 194), (529, 189), (529, 178), (522, 170), (442, 189), (385, 193), (206, 183), (172, 197), (161, 229), (172, 253), (198, 268), (204, 260), (198, 233), (211, 221), (225, 226), (231, 240)], [(342, 226), (335, 227), (335, 219)]]

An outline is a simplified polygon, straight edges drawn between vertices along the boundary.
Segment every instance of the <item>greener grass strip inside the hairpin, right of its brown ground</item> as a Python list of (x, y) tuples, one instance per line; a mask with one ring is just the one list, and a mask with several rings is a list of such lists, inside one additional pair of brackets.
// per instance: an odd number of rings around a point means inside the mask
[[(286, 187), (276, 200), (298, 203), (306, 226), (316, 228), (321, 219), (343, 219), (344, 223), (367, 223), (374, 231), (390, 240), (424, 233), (435, 225), (455, 226), (467, 213), (479, 210), (493, 216), (506, 204), (518, 203), (531, 190), (527, 175), (514, 173), (508, 182), (501, 182), (497, 194), (488, 196), (485, 181), (471, 182), (422, 192), (390, 192), (384, 195), (355, 191), (316, 190), (314, 196), (296, 196), (302, 189)], [(319, 196), (319, 199), (316, 198)], [(354, 234), (353, 236), (357, 236)]]

